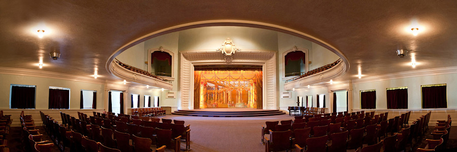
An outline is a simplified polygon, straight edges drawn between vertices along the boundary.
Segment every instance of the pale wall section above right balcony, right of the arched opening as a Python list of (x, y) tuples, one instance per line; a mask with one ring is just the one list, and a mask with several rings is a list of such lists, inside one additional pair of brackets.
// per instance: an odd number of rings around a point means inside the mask
[(313, 70), (329, 63), (333, 63), (338, 60), (340, 57), (320, 45), (312, 43), (312, 49), (310, 49), (310, 59), (311, 64), (309, 64), (309, 69)]

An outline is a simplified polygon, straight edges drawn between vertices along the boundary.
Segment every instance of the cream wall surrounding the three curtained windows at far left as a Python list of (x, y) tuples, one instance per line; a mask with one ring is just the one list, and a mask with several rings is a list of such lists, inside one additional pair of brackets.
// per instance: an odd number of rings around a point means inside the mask
[(97, 91), (97, 109), (104, 109), (105, 85), (77, 81), (0, 74), (0, 108), (10, 108), (10, 85), (35, 85), (36, 109), (48, 109), (49, 87), (70, 88), (70, 109), (80, 109), (81, 89)]

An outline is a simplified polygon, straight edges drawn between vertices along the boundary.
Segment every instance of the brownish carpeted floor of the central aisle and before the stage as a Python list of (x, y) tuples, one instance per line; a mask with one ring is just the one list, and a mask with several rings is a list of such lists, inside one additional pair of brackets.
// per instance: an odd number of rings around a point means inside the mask
[[(266, 121), (290, 120), (293, 119), (293, 116), (212, 118), (167, 115), (162, 118), (184, 120), (185, 125), (190, 124), (191, 151), (265, 151), (265, 145), (260, 143), (262, 132), (260, 126), (265, 125)], [(40, 129), (43, 130), (43, 128)], [(432, 126), (430, 130), (433, 130)], [(451, 130), (457, 130), (457, 127), (452, 127)], [(20, 131), (20, 127), (10, 129), (7, 138), (11, 151), (23, 151)], [(44, 130), (41, 132), (45, 133)], [(431, 135), (427, 134), (426, 137), (431, 138)], [(50, 140), (47, 135), (44, 139)], [(184, 148), (185, 143), (181, 144)], [(417, 143), (413, 142), (409, 148), (415, 151), (417, 147), (423, 147), (425, 144), (424, 139)], [(457, 151), (457, 132), (451, 131), (446, 147), (453, 148), (449, 151)], [(54, 151), (58, 151), (57, 147)]]

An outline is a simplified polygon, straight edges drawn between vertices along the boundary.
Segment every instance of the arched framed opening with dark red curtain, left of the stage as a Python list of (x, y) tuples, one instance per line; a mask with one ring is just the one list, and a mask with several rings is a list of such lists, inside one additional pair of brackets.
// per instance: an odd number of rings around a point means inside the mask
[(173, 52), (160, 47), (149, 49), (148, 53), (148, 70), (152, 74), (173, 77)]

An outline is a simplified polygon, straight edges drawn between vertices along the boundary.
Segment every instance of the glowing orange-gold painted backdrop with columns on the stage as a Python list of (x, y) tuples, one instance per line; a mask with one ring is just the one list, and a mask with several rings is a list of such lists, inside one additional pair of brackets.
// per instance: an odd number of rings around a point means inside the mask
[(262, 104), (262, 76), (262, 71), (196, 70), (195, 107), (257, 108)]

